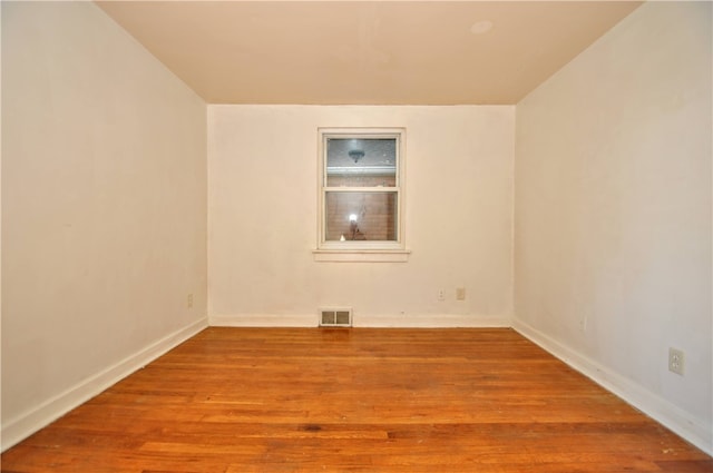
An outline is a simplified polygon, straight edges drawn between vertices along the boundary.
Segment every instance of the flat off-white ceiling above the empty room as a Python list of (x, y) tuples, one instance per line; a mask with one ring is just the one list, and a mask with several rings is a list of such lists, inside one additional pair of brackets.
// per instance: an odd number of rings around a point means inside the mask
[(211, 104), (517, 104), (632, 1), (99, 1)]

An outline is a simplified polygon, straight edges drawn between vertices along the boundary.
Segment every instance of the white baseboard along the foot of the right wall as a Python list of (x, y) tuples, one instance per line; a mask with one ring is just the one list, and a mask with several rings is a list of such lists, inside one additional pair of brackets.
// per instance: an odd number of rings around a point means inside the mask
[(514, 319), (512, 328), (602, 387), (616, 394), (681, 437), (703, 450), (709, 455), (713, 455), (713, 426), (710, 424), (706, 425), (704, 421), (695, 418), (681, 407), (611, 368), (598, 364), (594, 359), (550, 338), (522, 321)]

